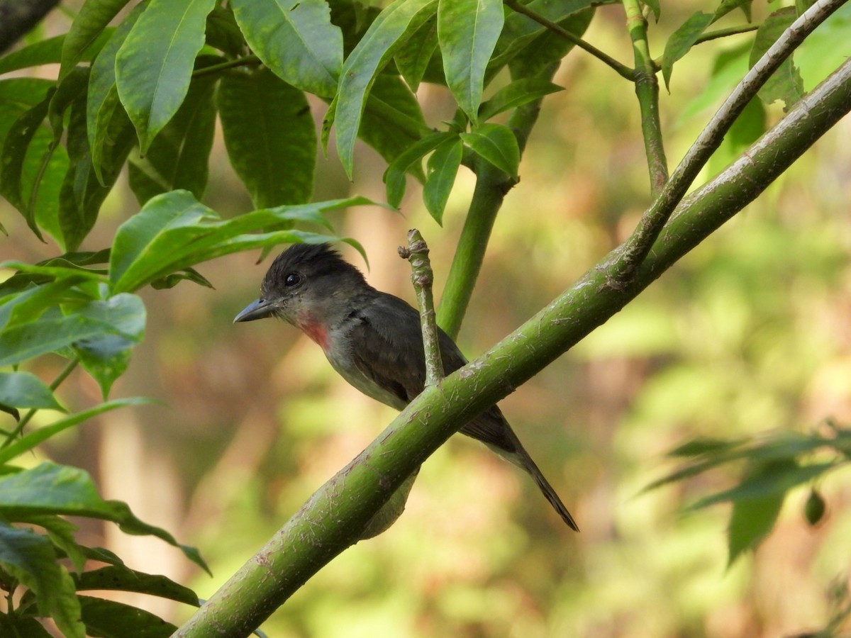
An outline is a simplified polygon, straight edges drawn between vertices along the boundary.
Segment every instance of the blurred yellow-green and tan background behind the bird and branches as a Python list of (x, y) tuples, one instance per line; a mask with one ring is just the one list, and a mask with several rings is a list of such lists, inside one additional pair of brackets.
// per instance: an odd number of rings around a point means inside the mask
[[(671, 4), (663, 3), (660, 24), (651, 25), (657, 54), (665, 37), (704, 6)], [(755, 20), (768, 10), (756, 4)], [(586, 39), (631, 60), (623, 23), (622, 9), (603, 7)], [(66, 18), (54, 14), (43, 28), (65, 31)], [(719, 50), (747, 37), (702, 44), (675, 66), (671, 94), (663, 88), (661, 96), (671, 166), (717, 105), (707, 85)], [(824, 76), (817, 45), (801, 55), (808, 87)], [(461, 330), (468, 356), (517, 328), (614, 248), (649, 202), (632, 86), (575, 52), (556, 82), (565, 90), (545, 99)], [(424, 86), (419, 96), (430, 122), (452, 117), (445, 89)], [(312, 106), (318, 123), (326, 107)], [(781, 116), (780, 105), (768, 109), (769, 122)], [(849, 134), (846, 119), (757, 202), (501, 403), (582, 533), (564, 527), (521, 472), (456, 436), (423, 466), (397, 524), (325, 567), (264, 625), (266, 633), (733, 637), (823, 627), (831, 582), (848, 578), (847, 470), (820, 486), (826, 521), (808, 527), (806, 491), (792, 493), (767, 542), (732, 567), (729, 506), (682, 511), (728, 487), (728, 470), (642, 490), (676, 467), (665, 452), (695, 436), (808, 431), (828, 417), (851, 421)], [(205, 202), (225, 216), (249, 210), (220, 139), (216, 148)], [(733, 151), (718, 151), (711, 168), (722, 168)], [(320, 159), (317, 200), (383, 199), (386, 167), (372, 151), (358, 151), (353, 184), (333, 150), (328, 157)], [(368, 280), (412, 301), (408, 265), (396, 248), (408, 228), (420, 228), (431, 245), (439, 299), (472, 187), (462, 170), (443, 228), (424, 212), (413, 183), (402, 215), (359, 208), (334, 223), (363, 242)], [(119, 180), (83, 249), (108, 245), (137, 209)], [(0, 237), (2, 259), (54, 255), (56, 248), (31, 236), (6, 202), (0, 215), (9, 230)], [(356, 253), (344, 252), (366, 270)], [(113, 396), (151, 396), (162, 404), (107, 414), (43, 451), (86, 468), (106, 498), (126, 500), (142, 519), (197, 545), (214, 578), (177, 550), (113, 527), (87, 527), (81, 542), (105, 544), (130, 567), (166, 573), (202, 597), (393, 416), (339, 379), (294, 328), (231, 324), (258, 292), (269, 261), (256, 259), (243, 254), (203, 265), (214, 290), (181, 283), (143, 292), (146, 339)], [(43, 366), (37, 372), (50, 379), (61, 362)], [(60, 396), (84, 407), (98, 401), (99, 390), (75, 373)], [(175, 620), (191, 611), (133, 602)]]

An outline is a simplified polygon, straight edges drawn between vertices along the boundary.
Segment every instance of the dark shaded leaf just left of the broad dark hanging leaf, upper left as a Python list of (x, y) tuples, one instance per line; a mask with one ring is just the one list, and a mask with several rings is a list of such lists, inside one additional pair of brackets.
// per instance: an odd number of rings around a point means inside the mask
[(151, 142), (145, 157), (131, 157), (129, 184), (144, 204), (160, 193), (186, 189), (197, 197), (207, 188), (215, 133), (216, 77), (196, 77), (171, 122)]

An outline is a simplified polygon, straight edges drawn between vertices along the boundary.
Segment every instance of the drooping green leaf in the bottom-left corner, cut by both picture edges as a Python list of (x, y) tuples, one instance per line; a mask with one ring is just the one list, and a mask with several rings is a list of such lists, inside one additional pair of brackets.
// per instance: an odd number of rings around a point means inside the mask
[(74, 582), (47, 538), (0, 523), (0, 567), (32, 590), (39, 613), (53, 618), (62, 635), (85, 638)]

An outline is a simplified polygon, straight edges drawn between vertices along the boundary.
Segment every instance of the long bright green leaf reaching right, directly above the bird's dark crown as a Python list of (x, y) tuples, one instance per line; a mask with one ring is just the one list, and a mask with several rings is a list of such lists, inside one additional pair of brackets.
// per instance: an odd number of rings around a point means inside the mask
[[(290, 229), (300, 221), (324, 221), (322, 214), (328, 210), (367, 203), (372, 202), (352, 197), (265, 208), (222, 221), (189, 192), (159, 195), (118, 228), (110, 258), (112, 290), (138, 290), (207, 259), (248, 248), (304, 239), (332, 241), (332, 237)], [(266, 232), (254, 234), (260, 230)]]

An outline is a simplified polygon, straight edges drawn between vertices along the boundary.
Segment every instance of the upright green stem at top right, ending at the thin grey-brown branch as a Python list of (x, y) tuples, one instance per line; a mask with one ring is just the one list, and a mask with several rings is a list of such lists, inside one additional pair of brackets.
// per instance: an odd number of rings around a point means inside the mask
[(656, 66), (650, 55), (647, 41), (647, 20), (638, 0), (623, 0), (626, 12), (626, 29), (632, 40), (635, 56), (635, 83), (638, 106), (641, 111), (641, 128), (644, 152), (650, 174), (650, 194), (656, 197), (668, 180), (668, 162), (665, 160), (665, 145), (662, 142), (662, 127), (659, 121), (659, 80)]

